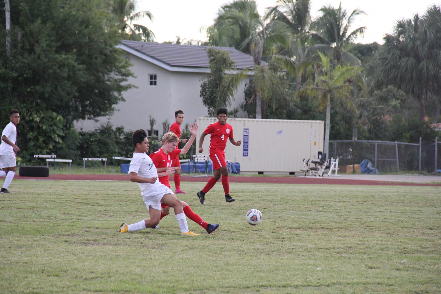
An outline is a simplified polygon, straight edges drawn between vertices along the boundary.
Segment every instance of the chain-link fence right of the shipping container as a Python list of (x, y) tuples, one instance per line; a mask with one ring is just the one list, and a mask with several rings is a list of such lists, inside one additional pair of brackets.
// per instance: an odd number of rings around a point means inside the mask
[(433, 173), (441, 168), (441, 142), (329, 141), (328, 157), (338, 157), (339, 165), (360, 164), (367, 159), (383, 173)]

